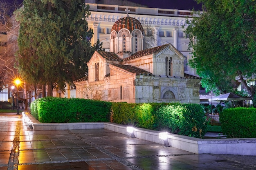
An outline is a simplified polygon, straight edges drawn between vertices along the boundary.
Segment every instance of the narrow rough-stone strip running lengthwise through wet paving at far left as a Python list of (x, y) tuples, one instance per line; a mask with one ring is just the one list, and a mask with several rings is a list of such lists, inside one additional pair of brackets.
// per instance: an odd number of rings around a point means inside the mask
[(19, 120), (16, 124), (15, 136), (13, 139), (13, 146), (11, 148), (7, 170), (18, 170), (20, 152), (20, 122), (21, 121)]

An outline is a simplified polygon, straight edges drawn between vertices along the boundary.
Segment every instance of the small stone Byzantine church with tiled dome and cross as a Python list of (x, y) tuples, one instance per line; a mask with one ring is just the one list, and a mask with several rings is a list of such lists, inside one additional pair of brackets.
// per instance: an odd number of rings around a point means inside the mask
[(199, 104), (200, 78), (184, 73), (184, 60), (172, 44), (144, 49), (143, 26), (127, 14), (112, 26), (110, 51), (95, 51), (88, 75), (74, 82), (76, 97)]

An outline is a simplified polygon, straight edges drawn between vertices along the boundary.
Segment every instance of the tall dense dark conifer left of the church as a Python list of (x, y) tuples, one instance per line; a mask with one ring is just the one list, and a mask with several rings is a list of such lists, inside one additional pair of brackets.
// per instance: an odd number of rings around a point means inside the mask
[[(91, 46), (93, 31), (84, 0), (24, 0), (20, 22), (18, 70), (26, 82), (64, 90), (84, 76), (86, 63), (101, 44)], [(98, 41), (99, 42), (99, 41)]]

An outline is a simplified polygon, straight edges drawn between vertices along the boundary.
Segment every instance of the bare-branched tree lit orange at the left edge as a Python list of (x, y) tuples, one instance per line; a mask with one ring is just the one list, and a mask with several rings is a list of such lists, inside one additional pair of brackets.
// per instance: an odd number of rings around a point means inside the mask
[(2, 88), (11, 86), (13, 78), (17, 74), (15, 50), (18, 28), (13, 27), (13, 11), (18, 9), (20, 4), (17, 1), (9, 3), (0, 1), (0, 91)]

